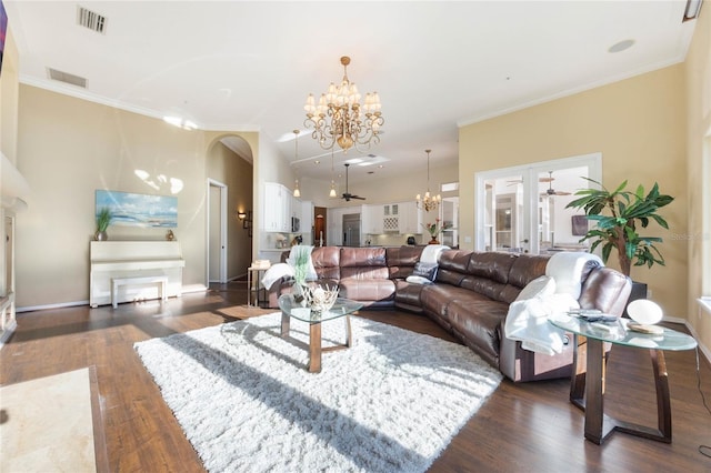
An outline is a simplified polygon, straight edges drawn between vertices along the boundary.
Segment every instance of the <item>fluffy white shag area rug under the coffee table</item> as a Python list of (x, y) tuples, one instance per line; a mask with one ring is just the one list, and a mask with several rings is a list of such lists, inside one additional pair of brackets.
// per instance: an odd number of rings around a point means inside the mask
[[(501, 381), (467, 346), (357, 316), (354, 346), (309, 373), (280, 321), (136, 344), (210, 472), (423, 472)], [(343, 320), (322, 332), (343, 343)], [(291, 336), (308, 343), (308, 324), (292, 319)]]

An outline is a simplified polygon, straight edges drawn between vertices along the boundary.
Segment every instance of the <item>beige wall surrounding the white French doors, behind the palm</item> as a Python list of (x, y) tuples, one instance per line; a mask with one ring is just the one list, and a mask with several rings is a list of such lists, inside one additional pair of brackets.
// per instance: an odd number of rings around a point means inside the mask
[[(685, 318), (688, 231), (684, 68), (678, 64), (525, 110), (462, 127), (459, 132), (460, 241), (474, 236), (474, 173), (530, 162), (602, 153), (602, 182), (659, 182), (675, 198), (662, 214), (667, 266), (633, 268), (670, 316)], [(613, 258), (608, 262), (615, 266)]]

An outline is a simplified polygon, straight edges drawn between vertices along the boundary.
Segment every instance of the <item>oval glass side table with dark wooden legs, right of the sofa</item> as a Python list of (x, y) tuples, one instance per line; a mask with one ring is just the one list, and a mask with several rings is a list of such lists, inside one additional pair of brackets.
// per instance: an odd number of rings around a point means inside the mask
[[(660, 334), (635, 332), (627, 328), (631, 322), (629, 319), (619, 319), (614, 323), (605, 324), (560, 315), (555, 319), (549, 319), (549, 322), (575, 335), (570, 402), (585, 413), (585, 439), (600, 445), (612, 432), (619, 431), (671, 443), (671, 404), (664, 351), (694, 349), (697, 341), (692, 336), (671, 329), (663, 329)], [(581, 338), (584, 338), (587, 342), (583, 342)], [(604, 415), (607, 358), (603, 343), (649, 350), (657, 389), (657, 429)]]

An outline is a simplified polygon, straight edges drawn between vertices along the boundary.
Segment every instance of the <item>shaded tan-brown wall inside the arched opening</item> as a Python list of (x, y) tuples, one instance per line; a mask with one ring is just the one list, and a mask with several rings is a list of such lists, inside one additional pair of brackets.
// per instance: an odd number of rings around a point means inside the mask
[(252, 165), (219, 141), (208, 151), (208, 178), (228, 188), (228, 280), (247, 274), (252, 242), (237, 213), (252, 210)]

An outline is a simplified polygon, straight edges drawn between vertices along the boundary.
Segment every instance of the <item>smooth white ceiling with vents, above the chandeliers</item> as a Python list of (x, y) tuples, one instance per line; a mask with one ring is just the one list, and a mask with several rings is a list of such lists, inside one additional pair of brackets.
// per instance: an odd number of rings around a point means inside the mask
[[(81, 1), (106, 33), (77, 24), (71, 1), (3, 0), (20, 80), (210, 130), (258, 130), (289, 160), (303, 102), (342, 77), (377, 90), (384, 133), (375, 177), (458, 159), (467, 124), (684, 60), (694, 21), (673, 1)], [(622, 40), (634, 46), (610, 53)], [(48, 79), (53, 68), (87, 89)], [(323, 154), (323, 155), (322, 155)], [(330, 177), (330, 153), (299, 139), (301, 175)], [(351, 151), (348, 158), (360, 153)], [(342, 160), (339, 154), (338, 160)], [(372, 167), (377, 168), (377, 167)], [(357, 182), (370, 168), (352, 168)]]

